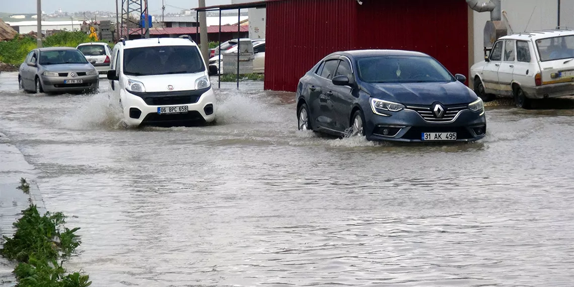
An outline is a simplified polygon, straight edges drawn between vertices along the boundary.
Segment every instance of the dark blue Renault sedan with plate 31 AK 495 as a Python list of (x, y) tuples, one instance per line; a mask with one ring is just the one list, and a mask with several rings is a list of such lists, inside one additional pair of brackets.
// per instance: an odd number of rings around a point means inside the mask
[(371, 141), (476, 141), (484, 103), (439, 61), (419, 52), (336, 52), (297, 87), (300, 130)]

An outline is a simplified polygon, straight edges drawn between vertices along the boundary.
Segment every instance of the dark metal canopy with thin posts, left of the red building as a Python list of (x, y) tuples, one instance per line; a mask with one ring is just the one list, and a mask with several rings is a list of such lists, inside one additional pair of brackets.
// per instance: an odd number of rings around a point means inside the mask
[[(195, 10), (195, 17), (199, 20), (199, 12), (207, 12), (207, 11), (219, 11), (219, 61), (218, 61), (218, 86), (221, 88), (221, 61), (223, 60), (221, 56), (221, 11), (223, 10), (235, 10), (237, 9), (237, 90), (239, 90), (239, 55), (241, 55), (241, 49), (239, 49), (240, 42), (241, 42), (241, 9), (249, 9), (249, 8), (262, 8), (267, 7), (267, 3), (269, 0), (262, 0), (257, 2), (249, 2), (249, 3), (237, 3), (237, 4), (228, 4), (228, 5), (219, 5), (219, 6), (208, 6), (203, 8), (196, 8), (192, 9)], [(207, 27), (205, 27), (207, 29)], [(196, 41), (197, 36), (199, 36), (199, 25), (196, 27)], [(203, 43), (200, 43), (203, 44)], [(209, 71), (209, 65), (207, 67)]]

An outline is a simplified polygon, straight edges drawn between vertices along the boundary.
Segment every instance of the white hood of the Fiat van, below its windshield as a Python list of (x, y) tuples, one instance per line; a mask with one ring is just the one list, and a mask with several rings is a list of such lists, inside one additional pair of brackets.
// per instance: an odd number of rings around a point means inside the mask
[[(199, 72), (199, 73), (182, 73), (173, 75), (152, 75), (152, 76), (126, 75), (128, 79), (144, 83), (146, 92), (195, 90), (195, 81), (203, 76), (207, 76), (207, 74), (205, 72)], [(172, 90), (169, 90), (168, 86), (172, 86)]]

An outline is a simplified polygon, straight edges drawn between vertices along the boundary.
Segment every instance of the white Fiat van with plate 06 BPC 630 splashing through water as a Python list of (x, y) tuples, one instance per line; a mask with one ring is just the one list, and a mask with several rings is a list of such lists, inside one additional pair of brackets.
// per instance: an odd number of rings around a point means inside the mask
[(191, 40), (121, 40), (114, 46), (107, 78), (130, 126), (215, 120), (216, 100), (207, 67)]

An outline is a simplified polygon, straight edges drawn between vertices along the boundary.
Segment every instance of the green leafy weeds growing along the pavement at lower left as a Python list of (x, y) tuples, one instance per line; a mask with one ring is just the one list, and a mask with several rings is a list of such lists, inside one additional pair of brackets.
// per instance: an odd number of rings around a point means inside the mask
[[(28, 186), (21, 179), (21, 187)], [(18, 287), (87, 287), (90, 277), (79, 272), (67, 274), (62, 266), (82, 241), (75, 234), (80, 228), (64, 226), (65, 216), (61, 212), (46, 212), (40, 215), (36, 205), (22, 211), (22, 217), (13, 223), (16, 228), (12, 238), (3, 236), (0, 255), (17, 266), (13, 273)], [(60, 263), (59, 263), (60, 262)]]

